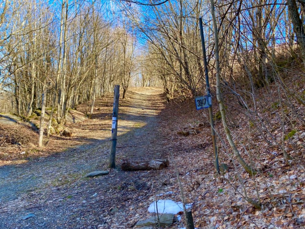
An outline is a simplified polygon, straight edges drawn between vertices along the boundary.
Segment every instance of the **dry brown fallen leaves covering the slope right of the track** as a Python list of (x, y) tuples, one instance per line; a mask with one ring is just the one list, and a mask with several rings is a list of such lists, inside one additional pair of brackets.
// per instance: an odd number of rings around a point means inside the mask
[[(302, 88), (298, 89), (302, 90)], [(275, 90), (274, 93), (277, 91)], [(231, 115), (241, 117), (239, 126), (231, 126), (231, 128), (235, 128), (239, 132), (238, 136), (245, 136), (246, 140), (249, 134), (248, 121), (240, 115), (238, 105), (230, 105)], [(295, 103), (294, 106), (297, 111), (304, 111), (304, 107), (300, 107), (300, 104)], [(214, 114), (216, 111), (217, 108), (214, 106)], [(304, 118), (304, 112), (299, 114)], [(304, 228), (305, 126), (303, 123), (296, 122), (297, 118), (289, 114), (294, 128), (298, 130), (298, 134), (292, 136), (291, 140), (285, 140), (286, 151), (296, 158), (290, 161), (290, 165), (283, 158), (280, 147), (269, 146), (258, 134), (251, 133), (254, 141), (248, 148), (250, 147), (257, 167), (263, 171), (258, 173), (255, 179), (249, 177), (237, 162), (235, 162), (237, 169), (235, 170), (228, 154), (225, 153), (226, 149), (221, 147), (221, 142), (218, 142), (220, 160), (229, 165), (229, 172), (218, 178), (213, 167), (209, 125), (196, 135), (180, 133), (181, 130), (182, 132), (191, 130), (189, 126), (194, 127), (198, 123), (207, 122), (207, 117), (207, 111), (196, 111), (193, 101), (180, 103), (179, 106), (169, 103), (160, 115), (160, 129), (162, 129), (160, 150), (172, 151), (174, 154), (188, 201), (194, 202), (195, 226), (197, 228), (210, 228), (212, 225), (217, 228)], [(271, 112), (269, 120), (273, 127), (272, 135), (281, 142), (282, 129), (277, 115)], [(215, 126), (218, 134), (226, 141), (221, 121), (216, 121)], [(290, 129), (287, 129), (287, 132), (289, 131)], [(239, 151), (242, 157), (248, 160), (242, 147)], [(166, 172), (161, 172), (162, 176), (169, 176), (171, 181), (170, 185), (162, 185), (160, 188), (162, 192), (175, 191), (175, 194), (161, 198), (179, 200), (174, 168), (170, 166)], [(255, 186), (257, 186), (263, 206), (261, 211), (256, 210), (242, 197), (245, 195), (242, 186), (245, 187), (248, 197), (256, 200)], [(152, 200), (153, 198), (150, 199)], [(172, 228), (179, 228), (177, 225), (183, 226), (181, 222), (176, 222)]]

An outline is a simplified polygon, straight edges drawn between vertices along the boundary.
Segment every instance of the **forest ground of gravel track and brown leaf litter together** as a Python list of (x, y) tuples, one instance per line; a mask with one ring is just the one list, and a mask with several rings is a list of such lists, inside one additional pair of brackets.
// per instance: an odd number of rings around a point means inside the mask
[[(197, 228), (304, 228), (304, 154), (294, 155), (301, 163), (287, 165), (278, 149), (257, 146), (257, 155), (266, 158), (262, 176), (253, 180), (240, 166), (234, 171), (223, 156), (221, 162), (229, 165), (229, 171), (218, 177), (206, 111), (196, 111), (193, 100), (165, 103), (162, 89), (133, 88), (120, 100), (117, 165), (124, 158), (166, 157), (170, 166), (160, 171), (116, 168), (106, 176), (84, 178), (88, 172), (107, 170), (108, 165), (112, 99), (95, 105), (92, 119), (70, 126), (75, 139), (58, 140), (61, 147), (66, 142), (69, 148), (0, 167), (0, 228), (134, 228), (139, 220), (152, 216), (147, 209), (156, 198), (180, 201), (173, 160), (186, 201), (193, 204)], [(79, 110), (85, 111), (86, 105)], [(234, 110), (238, 114), (238, 107)], [(224, 138), (219, 120), (215, 128)], [(304, 125), (297, 128), (304, 135)], [(200, 131), (194, 134), (194, 129)], [(304, 148), (302, 139), (293, 141)], [(71, 147), (71, 142), (81, 145)], [(255, 186), (262, 210), (242, 198), (245, 187), (255, 199)], [(35, 216), (23, 220), (29, 213)], [(175, 216), (171, 229), (183, 227), (179, 218)]]

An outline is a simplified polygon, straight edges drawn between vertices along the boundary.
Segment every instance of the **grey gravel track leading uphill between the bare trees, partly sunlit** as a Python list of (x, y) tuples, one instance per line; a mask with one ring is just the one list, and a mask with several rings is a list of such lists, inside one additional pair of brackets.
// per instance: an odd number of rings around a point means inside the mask
[[(157, 137), (154, 124), (163, 106), (161, 93), (156, 88), (135, 88), (125, 102), (120, 101), (117, 162), (126, 157), (161, 156), (150, 145)], [(107, 176), (83, 177), (107, 169), (109, 141), (105, 140), (111, 134), (111, 115), (100, 118), (94, 114), (93, 121), (82, 125), (84, 137), (91, 136), (90, 144), (26, 164), (0, 167), (0, 228), (114, 228), (114, 224), (125, 228), (105, 215), (127, 196), (117, 199), (117, 190), (132, 187), (141, 192), (149, 187), (139, 177), (118, 169)], [(35, 216), (22, 220), (29, 213)]]

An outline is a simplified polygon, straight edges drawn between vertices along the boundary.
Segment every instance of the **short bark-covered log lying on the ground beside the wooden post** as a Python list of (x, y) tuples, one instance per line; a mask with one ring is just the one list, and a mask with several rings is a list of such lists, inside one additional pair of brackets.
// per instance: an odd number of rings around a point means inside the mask
[(156, 159), (147, 161), (124, 160), (121, 164), (121, 169), (125, 171), (135, 170), (161, 170), (166, 168), (170, 162), (167, 159)]

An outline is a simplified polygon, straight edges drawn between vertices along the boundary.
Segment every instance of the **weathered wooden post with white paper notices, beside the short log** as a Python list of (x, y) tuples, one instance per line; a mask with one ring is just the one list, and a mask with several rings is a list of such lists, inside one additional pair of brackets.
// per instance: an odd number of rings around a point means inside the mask
[(111, 126), (111, 147), (109, 157), (109, 168), (115, 168), (115, 152), (117, 147), (117, 117), (119, 113), (119, 97), (120, 85), (114, 86), (113, 96), (113, 113), (112, 113), (112, 126)]

